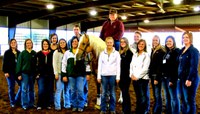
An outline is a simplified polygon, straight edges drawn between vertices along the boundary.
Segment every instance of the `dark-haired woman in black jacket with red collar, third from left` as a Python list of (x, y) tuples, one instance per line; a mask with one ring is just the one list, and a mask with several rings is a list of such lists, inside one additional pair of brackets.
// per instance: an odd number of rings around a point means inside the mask
[(42, 50), (37, 53), (38, 60), (38, 104), (37, 110), (42, 108), (51, 109), (50, 95), (54, 87), (54, 72), (53, 72), (53, 51), (50, 50), (50, 43), (47, 39), (42, 40)]

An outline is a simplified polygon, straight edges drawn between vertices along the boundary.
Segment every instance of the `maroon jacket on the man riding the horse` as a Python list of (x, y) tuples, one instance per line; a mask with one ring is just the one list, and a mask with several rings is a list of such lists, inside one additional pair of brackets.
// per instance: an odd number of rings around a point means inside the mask
[(124, 34), (124, 24), (116, 19), (112, 24), (110, 20), (107, 20), (103, 23), (100, 38), (105, 40), (106, 37), (113, 37), (114, 40), (119, 41)]

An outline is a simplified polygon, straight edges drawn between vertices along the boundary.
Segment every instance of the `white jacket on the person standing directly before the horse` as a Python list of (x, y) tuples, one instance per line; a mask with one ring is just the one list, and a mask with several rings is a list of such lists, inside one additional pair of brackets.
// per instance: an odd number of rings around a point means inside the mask
[(120, 80), (120, 62), (121, 57), (118, 51), (113, 48), (113, 51), (108, 55), (107, 50), (101, 52), (98, 61), (97, 79), (103, 76), (116, 75), (116, 80)]

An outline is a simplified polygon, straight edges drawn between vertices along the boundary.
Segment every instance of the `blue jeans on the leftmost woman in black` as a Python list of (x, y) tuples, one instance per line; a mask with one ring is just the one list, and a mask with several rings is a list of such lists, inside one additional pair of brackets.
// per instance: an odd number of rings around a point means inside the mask
[(17, 94), (15, 95), (15, 75), (13, 74), (9, 74), (10, 76), (6, 78), (7, 82), (8, 82), (8, 95), (9, 95), (9, 99), (10, 99), (10, 105), (15, 105), (16, 103), (20, 103), (21, 102), (21, 84), (18, 81), (18, 85), (20, 86)]

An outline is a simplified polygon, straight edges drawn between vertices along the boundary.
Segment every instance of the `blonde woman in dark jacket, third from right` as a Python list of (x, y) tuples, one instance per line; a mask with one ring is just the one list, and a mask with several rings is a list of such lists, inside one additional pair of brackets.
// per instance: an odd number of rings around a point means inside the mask
[(155, 104), (153, 107), (153, 114), (162, 113), (162, 97), (161, 97), (161, 85), (162, 85), (162, 67), (163, 56), (165, 51), (160, 45), (159, 36), (155, 35), (152, 41), (151, 62), (149, 66), (149, 76), (151, 79), (151, 85), (153, 88), (153, 96)]

